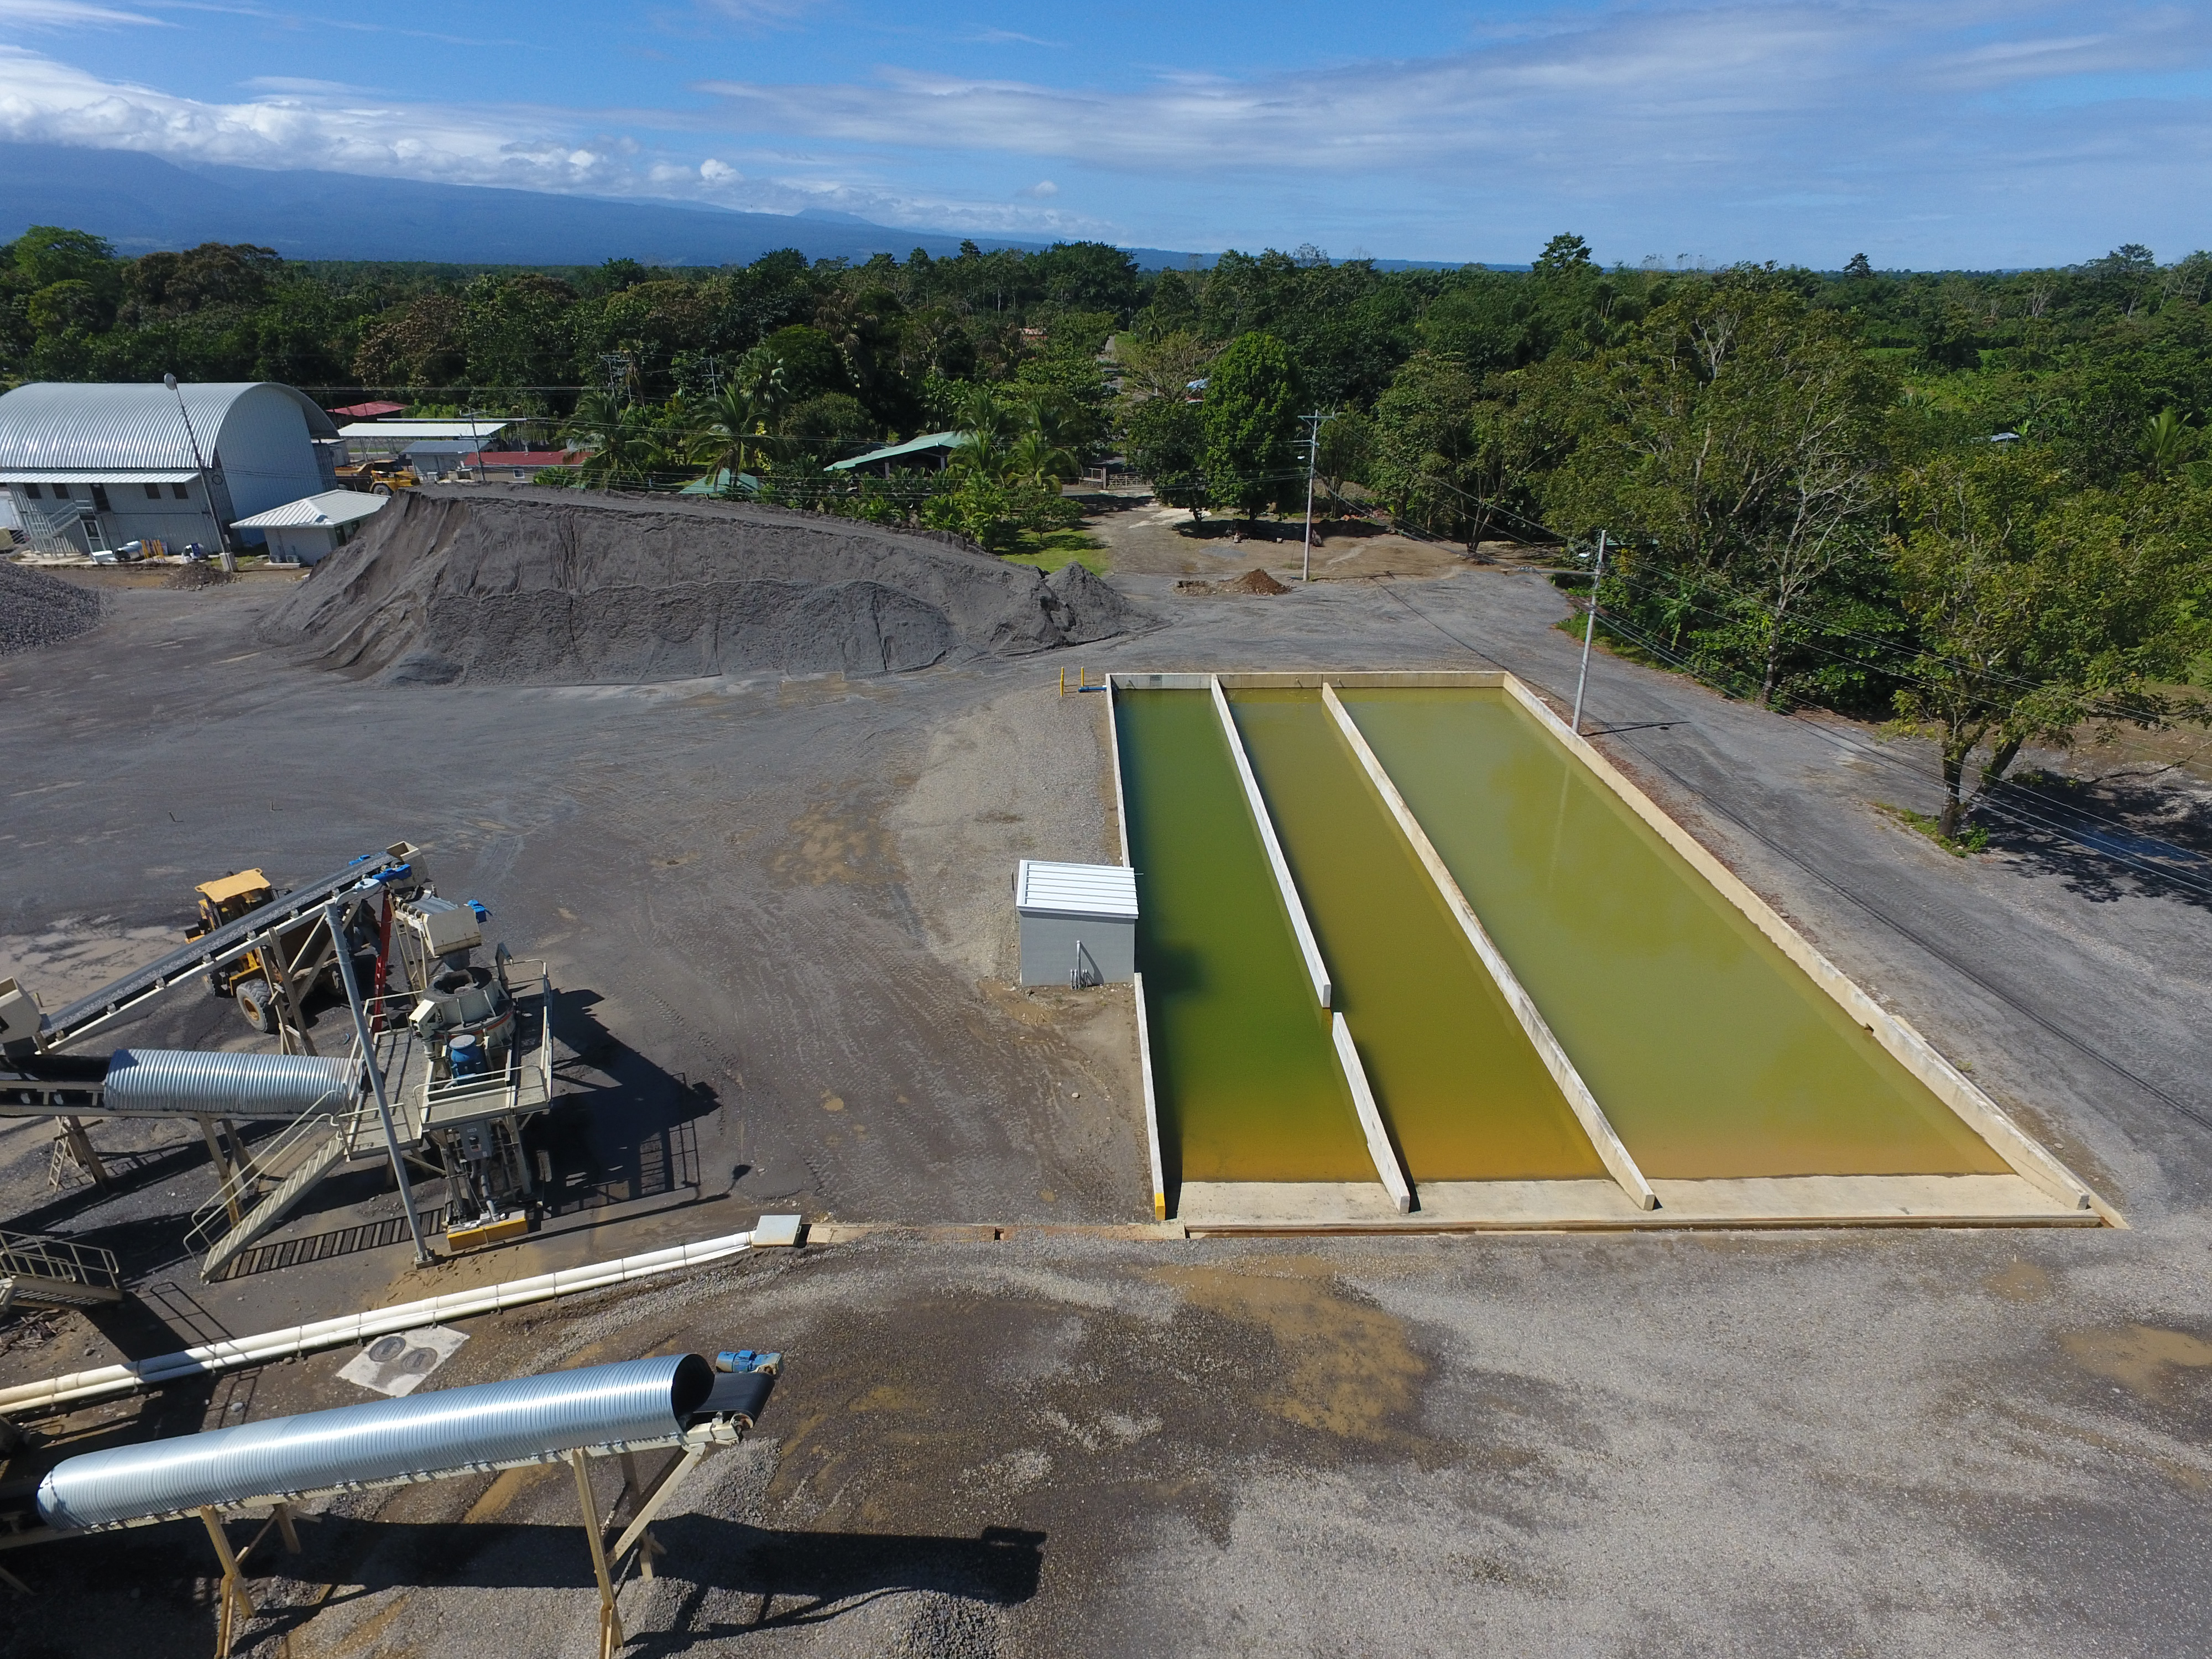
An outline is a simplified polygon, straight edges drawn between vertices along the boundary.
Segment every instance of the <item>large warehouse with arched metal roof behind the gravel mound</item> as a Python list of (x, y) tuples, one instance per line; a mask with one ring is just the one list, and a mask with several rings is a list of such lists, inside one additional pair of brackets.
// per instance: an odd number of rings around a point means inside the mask
[[(241, 518), (336, 489), (338, 447), (327, 414), (270, 380), (0, 394), (0, 487), (46, 553), (215, 551)], [(261, 531), (230, 540), (257, 546)]]

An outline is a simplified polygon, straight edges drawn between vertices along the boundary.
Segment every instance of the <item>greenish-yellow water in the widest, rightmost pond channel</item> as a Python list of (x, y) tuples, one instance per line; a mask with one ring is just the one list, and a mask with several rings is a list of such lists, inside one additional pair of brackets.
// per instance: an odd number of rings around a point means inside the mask
[(1340, 697), (1646, 1175), (2008, 1168), (1504, 692)]

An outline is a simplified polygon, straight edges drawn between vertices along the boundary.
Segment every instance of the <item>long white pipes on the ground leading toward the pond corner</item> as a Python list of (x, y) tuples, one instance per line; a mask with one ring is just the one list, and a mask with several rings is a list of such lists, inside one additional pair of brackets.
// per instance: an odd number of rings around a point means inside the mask
[(562, 1267), (535, 1279), (511, 1279), (504, 1285), (482, 1290), (456, 1290), (449, 1296), (425, 1296), (398, 1307), (374, 1307), (338, 1318), (319, 1318), (312, 1325), (292, 1325), (261, 1336), (237, 1336), (226, 1343), (188, 1347), (181, 1354), (161, 1354), (150, 1360), (124, 1360), (102, 1365), (95, 1371), (73, 1371), (71, 1376), (24, 1383), (0, 1389), (0, 1413), (53, 1411), (58, 1407), (108, 1400), (119, 1394), (137, 1394), (161, 1383), (186, 1376), (217, 1376), (248, 1365), (274, 1365), (325, 1347), (347, 1347), (369, 1343), (394, 1332), (411, 1332), (422, 1325), (438, 1325), (449, 1318), (473, 1318), (476, 1314), (498, 1314), (504, 1307), (575, 1296), (586, 1290), (606, 1290), (630, 1279), (670, 1272), (675, 1267), (699, 1267), (723, 1256), (734, 1256), (752, 1245), (750, 1232), (730, 1232), (721, 1239), (650, 1250), (644, 1256), (619, 1256), (615, 1261), (593, 1261), (584, 1267)]

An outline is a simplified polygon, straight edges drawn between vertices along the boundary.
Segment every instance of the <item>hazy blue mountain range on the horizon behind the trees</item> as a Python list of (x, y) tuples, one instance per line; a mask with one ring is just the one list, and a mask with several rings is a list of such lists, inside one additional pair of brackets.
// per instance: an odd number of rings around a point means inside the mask
[[(117, 252), (250, 241), (285, 259), (427, 259), (447, 265), (743, 265), (776, 248), (807, 259), (916, 248), (958, 254), (964, 237), (898, 230), (847, 215), (730, 212), (664, 201), (562, 197), (473, 184), (418, 184), (354, 173), (263, 173), (177, 166), (133, 150), (0, 144), (0, 241), (31, 226), (91, 230)], [(973, 237), (978, 248), (1044, 248), (1042, 241)], [(1128, 250), (1146, 270), (1183, 268), (1212, 254)], [(1425, 261), (1380, 259), (1385, 270)]]

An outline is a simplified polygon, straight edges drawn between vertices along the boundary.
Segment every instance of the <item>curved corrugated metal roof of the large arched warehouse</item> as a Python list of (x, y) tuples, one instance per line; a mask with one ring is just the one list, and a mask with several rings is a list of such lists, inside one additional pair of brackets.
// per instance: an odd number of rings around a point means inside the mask
[[(184, 471), (212, 462), (217, 436), (230, 407), (248, 392), (268, 387), (292, 398), (307, 420), (310, 438), (336, 438), (338, 429), (314, 398), (274, 380), (210, 380), (181, 385), (69, 385), (33, 380), (0, 394), (0, 476), (137, 478)], [(177, 414), (177, 394), (192, 425)]]

